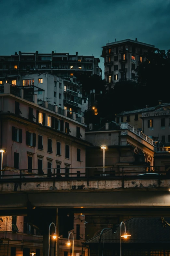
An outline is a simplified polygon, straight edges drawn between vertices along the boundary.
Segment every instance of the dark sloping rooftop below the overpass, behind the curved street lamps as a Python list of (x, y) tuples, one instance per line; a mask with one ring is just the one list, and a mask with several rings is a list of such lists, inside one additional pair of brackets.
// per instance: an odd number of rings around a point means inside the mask
[[(170, 218), (165, 218), (170, 223)], [(131, 235), (128, 239), (123, 238), (123, 243), (140, 243), (140, 244), (168, 244), (170, 241), (170, 229), (167, 225), (163, 228), (162, 220), (160, 218), (132, 218), (125, 221), (126, 232)], [(122, 233), (124, 227), (122, 227)], [(99, 236), (86, 241), (84, 244), (98, 244)], [(120, 243), (120, 225), (117, 232), (112, 234), (112, 230), (103, 232), (101, 243)]]

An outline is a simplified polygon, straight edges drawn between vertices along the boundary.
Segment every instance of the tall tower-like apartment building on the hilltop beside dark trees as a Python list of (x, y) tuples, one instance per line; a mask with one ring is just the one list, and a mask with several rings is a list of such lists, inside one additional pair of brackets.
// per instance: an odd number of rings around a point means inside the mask
[(136, 81), (135, 69), (146, 60), (144, 54), (155, 51), (154, 45), (141, 43), (131, 39), (125, 39), (103, 46), (101, 57), (105, 59), (105, 80), (107, 88), (114, 88), (118, 81)]

